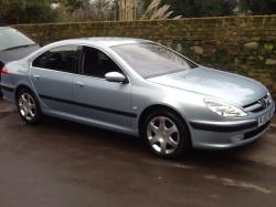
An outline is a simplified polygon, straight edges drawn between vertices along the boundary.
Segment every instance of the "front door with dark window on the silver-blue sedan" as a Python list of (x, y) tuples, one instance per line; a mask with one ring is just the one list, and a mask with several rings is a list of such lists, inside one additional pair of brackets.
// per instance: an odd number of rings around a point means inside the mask
[(127, 127), (130, 113), (130, 83), (105, 80), (107, 72), (120, 72), (119, 66), (104, 52), (83, 46), (81, 74), (74, 77), (74, 113), (96, 124)]

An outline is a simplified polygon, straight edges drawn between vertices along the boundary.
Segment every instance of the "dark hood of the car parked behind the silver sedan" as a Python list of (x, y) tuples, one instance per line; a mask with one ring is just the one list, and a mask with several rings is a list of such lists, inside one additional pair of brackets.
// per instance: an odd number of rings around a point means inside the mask
[(4, 64), (11, 61), (17, 61), (28, 56), (29, 54), (39, 49), (40, 46), (38, 44), (34, 44), (26, 48), (0, 51), (0, 61), (3, 62)]

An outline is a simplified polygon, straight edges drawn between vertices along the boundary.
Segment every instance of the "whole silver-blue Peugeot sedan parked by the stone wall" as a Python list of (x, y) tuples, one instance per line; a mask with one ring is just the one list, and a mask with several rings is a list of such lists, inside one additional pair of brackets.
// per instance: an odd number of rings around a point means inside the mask
[(140, 135), (161, 157), (248, 144), (275, 104), (259, 82), (201, 66), (161, 44), (87, 38), (49, 44), (2, 73), (22, 120), (42, 114)]

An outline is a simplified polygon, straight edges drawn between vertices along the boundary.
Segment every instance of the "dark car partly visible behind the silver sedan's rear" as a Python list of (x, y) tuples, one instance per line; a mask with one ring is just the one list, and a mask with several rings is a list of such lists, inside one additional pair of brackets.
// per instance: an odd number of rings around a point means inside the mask
[(20, 31), (11, 27), (0, 27), (0, 82), (6, 63), (22, 59), (39, 48), (39, 44)]

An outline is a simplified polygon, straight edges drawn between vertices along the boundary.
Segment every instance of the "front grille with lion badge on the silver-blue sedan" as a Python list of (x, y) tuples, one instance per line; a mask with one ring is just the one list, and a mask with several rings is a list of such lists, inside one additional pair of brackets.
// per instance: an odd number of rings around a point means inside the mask
[(243, 108), (245, 112), (262, 112), (265, 108), (267, 108), (272, 104), (272, 97), (268, 95), (265, 95), (264, 97), (257, 100), (256, 102), (253, 102), (251, 104), (244, 105)]

